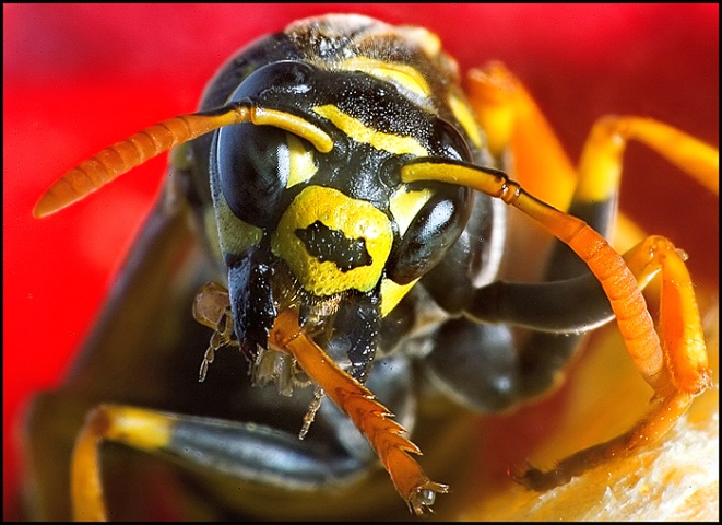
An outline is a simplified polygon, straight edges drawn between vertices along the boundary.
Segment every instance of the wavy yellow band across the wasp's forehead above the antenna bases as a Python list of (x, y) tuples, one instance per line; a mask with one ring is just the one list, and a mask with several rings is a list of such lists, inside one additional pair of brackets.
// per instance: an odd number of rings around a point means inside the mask
[(389, 153), (394, 153), (396, 155), (403, 155), (406, 153), (415, 156), (429, 155), (426, 148), (413, 137), (399, 137), (398, 135), (377, 131), (369, 128), (357, 118), (343, 113), (332, 104), (317, 106), (313, 108), (313, 112), (331, 120), (335, 127), (356, 142), (370, 144), (377, 150), (388, 151)]

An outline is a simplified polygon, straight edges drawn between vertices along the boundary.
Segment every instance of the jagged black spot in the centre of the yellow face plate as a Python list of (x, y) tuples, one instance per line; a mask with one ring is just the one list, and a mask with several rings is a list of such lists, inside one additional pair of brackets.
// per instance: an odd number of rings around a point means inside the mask
[(342, 231), (332, 230), (321, 221), (297, 229), (296, 236), (310, 255), (333, 262), (343, 272), (371, 264), (364, 238), (348, 238)]

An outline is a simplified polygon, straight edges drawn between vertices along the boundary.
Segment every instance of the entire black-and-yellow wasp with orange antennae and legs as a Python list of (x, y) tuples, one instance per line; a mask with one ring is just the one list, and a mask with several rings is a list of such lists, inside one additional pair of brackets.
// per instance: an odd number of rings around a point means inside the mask
[[(323, 515), (322, 498), (363, 512), (380, 469), (423, 515), (449, 490), (416, 457), (423, 405), (498, 412), (536, 398), (613, 319), (654, 389), (648, 413), (511, 476), (546, 490), (660, 439), (710, 369), (686, 254), (656, 235), (624, 254), (605, 240), (631, 140), (718, 191), (713, 148), (635, 116), (599, 120), (572, 168), (502, 65), (473, 70), (465, 93), (421, 27), (326, 15), (250, 44), (198, 113), (81, 163), (34, 210), (55, 213), (173, 150), (79, 363), (28, 416), (31, 466), (58, 464), (31, 469), (69, 472), (35, 481), (42, 505), (122, 515), (106, 487), (143, 452), (227, 515)], [(556, 238), (538, 282), (505, 278), (520, 217)], [(654, 279), (658, 329), (641, 293)], [(74, 439), (57, 439), (47, 422), (69, 406), (62, 434)], [(284, 509), (269, 503), (279, 494)]]

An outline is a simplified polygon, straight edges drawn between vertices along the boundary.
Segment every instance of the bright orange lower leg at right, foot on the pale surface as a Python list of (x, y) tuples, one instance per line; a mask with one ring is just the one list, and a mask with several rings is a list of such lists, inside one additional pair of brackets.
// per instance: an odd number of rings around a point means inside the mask
[(556, 487), (604, 460), (659, 440), (687, 411), (694, 398), (710, 386), (701, 320), (684, 256), (666, 238), (650, 236), (627, 253), (625, 259), (642, 281), (649, 281), (660, 270), (662, 275), (663, 353), (632, 353), (637, 369), (654, 389), (650, 409), (629, 431), (563, 459), (552, 470), (531, 468), (512, 472), (526, 487), (535, 490)]

